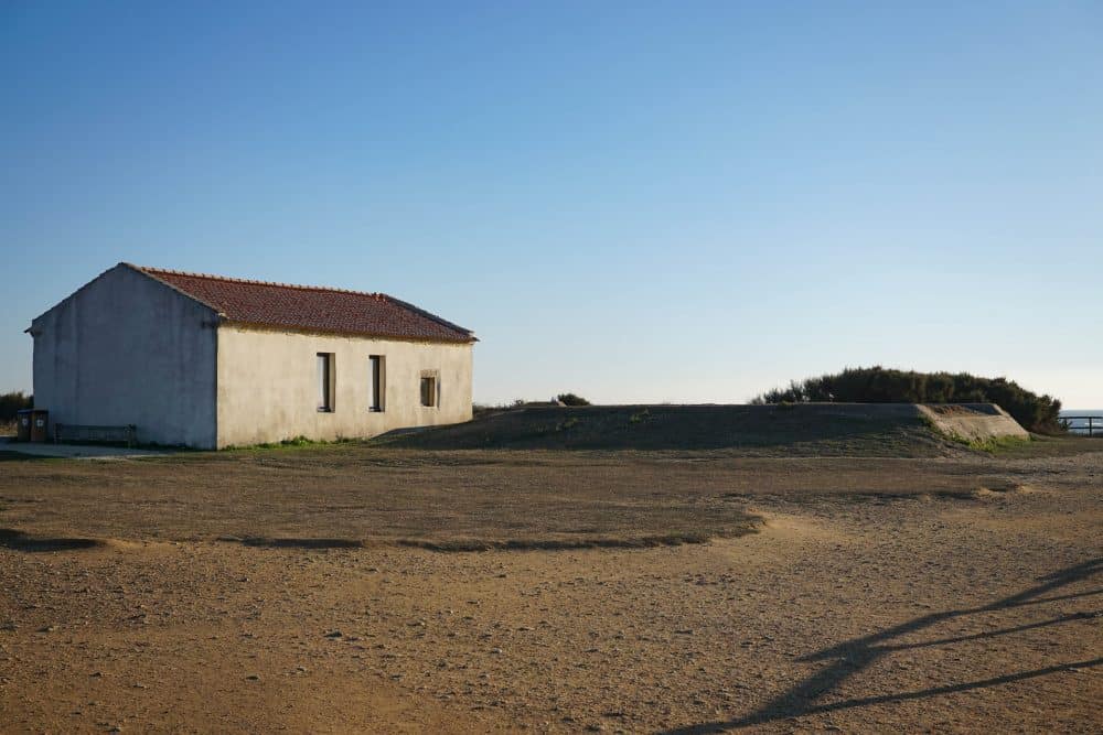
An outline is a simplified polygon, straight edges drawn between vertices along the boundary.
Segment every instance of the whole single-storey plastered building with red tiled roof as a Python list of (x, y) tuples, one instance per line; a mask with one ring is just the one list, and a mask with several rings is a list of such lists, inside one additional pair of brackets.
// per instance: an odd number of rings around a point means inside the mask
[(382, 293), (119, 263), (36, 317), (34, 404), (213, 448), (471, 419), (474, 335)]

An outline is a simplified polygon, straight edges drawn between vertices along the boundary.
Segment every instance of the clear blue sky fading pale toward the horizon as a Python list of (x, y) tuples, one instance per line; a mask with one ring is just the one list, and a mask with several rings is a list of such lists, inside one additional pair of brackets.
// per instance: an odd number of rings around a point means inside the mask
[(1094, 0), (4, 2), (0, 391), (126, 260), (413, 301), (483, 402), (881, 364), (1103, 408), (1101, 39)]

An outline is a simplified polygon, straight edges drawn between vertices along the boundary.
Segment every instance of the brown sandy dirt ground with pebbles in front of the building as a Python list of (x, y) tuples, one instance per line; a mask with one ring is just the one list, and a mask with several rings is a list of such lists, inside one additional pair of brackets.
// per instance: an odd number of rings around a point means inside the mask
[(0, 528), (3, 732), (1103, 731), (1100, 452), (10, 460)]

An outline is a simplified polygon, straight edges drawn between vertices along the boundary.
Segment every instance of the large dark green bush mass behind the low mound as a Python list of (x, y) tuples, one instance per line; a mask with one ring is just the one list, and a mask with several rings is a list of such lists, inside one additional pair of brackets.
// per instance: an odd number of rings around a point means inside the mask
[(767, 391), (751, 403), (998, 403), (1025, 429), (1061, 433), (1061, 401), (1038, 396), (1007, 378), (979, 378), (968, 372), (915, 372), (880, 366), (847, 368), (792, 381)]

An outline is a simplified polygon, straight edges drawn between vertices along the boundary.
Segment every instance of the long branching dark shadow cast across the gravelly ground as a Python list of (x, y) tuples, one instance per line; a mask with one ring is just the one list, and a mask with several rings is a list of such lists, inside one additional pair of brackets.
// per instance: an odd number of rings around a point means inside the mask
[(880, 658), (888, 656), (893, 651), (911, 649), (911, 648), (922, 648), (927, 646), (940, 646), (940, 645), (960, 642), (965, 640), (975, 640), (979, 638), (990, 638), (995, 636), (1005, 636), (1014, 633), (1019, 633), (1021, 630), (1042, 628), (1050, 625), (1059, 625), (1062, 623), (1068, 623), (1070, 620), (1083, 619), (1103, 614), (1103, 610), (1095, 610), (1092, 613), (1078, 613), (1073, 615), (1063, 615), (1056, 618), (1038, 620), (1035, 623), (1029, 623), (1026, 625), (1020, 625), (1011, 628), (990, 630), (987, 633), (981, 633), (967, 636), (941, 638), (938, 640), (928, 640), (919, 644), (893, 642), (898, 638), (901, 638), (908, 634), (923, 630), (924, 628), (929, 628), (933, 625), (943, 623), (952, 618), (960, 618), (967, 615), (976, 615), (982, 613), (992, 613), (995, 610), (1008, 609), (1013, 607), (1021, 607), (1024, 605), (1039, 605), (1042, 603), (1056, 602), (1059, 599), (1071, 599), (1075, 597), (1088, 597), (1091, 595), (1103, 594), (1103, 590), (1090, 590), (1088, 592), (1077, 592), (1063, 595), (1049, 594), (1074, 582), (1092, 579), (1093, 576), (1100, 574), (1101, 572), (1103, 572), (1103, 559), (1092, 559), (1081, 564), (1077, 564), (1074, 566), (1070, 566), (1068, 569), (1063, 569), (1052, 574), (1039, 577), (1038, 581), (1041, 584), (1038, 584), (1034, 587), (1030, 587), (1029, 590), (1025, 590), (1009, 597), (1004, 597), (988, 605), (983, 605), (981, 607), (968, 607), (955, 610), (946, 610), (943, 613), (932, 613), (931, 615), (924, 615), (914, 618), (912, 620), (895, 626), (892, 628), (888, 628), (880, 633), (875, 633), (872, 635), (864, 636), (861, 638), (855, 638), (853, 640), (839, 644), (838, 646), (825, 648), (815, 653), (805, 656), (801, 660), (802, 661), (834, 660), (834, 662), (831, 666), (813, 674), (812, 677), (808, 677), (807, 679), (799, 682), (789, 691), (771, 700), (770, 702), (759, 707), (754, 712), (743, 717), (738, 717), (735, 720), (704, 722), (694, 725), (688, 725), (685, 727), (677, 727), (674, 729), (664, 731), (663, 735), (696, 735), (700, 733), (720, 733), (729, 729), (736, 729), (739, 727), (762, 725), (769, 722), (785, 720), (788, 717), (799, 717), (812, 714), (824, 714), (829, 712), (837, 712), (839, 710), (849, 710), (854, 707), (867, 706), (871, 704), (885, 704), (888, 702), (922, 700), (931, 696), (939, 696), (942, 694), (950, 694), (954, 692), (966, 692), (975, 689), (984, 689), (986, 687), (996, 687), (998, 684), (1022, 681), (1025, 679), (1045, 677), (1051, 673), (1057, 673), (1059, 671), (1068, 671), (1070, 669), (1085, 669), (1091, 667), (1103, 666), (1103, 657), (1097, 657), (1094, 659), (1089, 659), (1086, 661), (1057, 663), (1042, 669), (1017, 671), (1000, 677), (993, 677), (990, 679), (970, 681), (961, 684), (947, 684), (945, 687), (932, 687), (930, 689), (923, 689), (914, 692), (897, 692), (891, 694), (880, 694), (876, 696), (842, 700), (837, 702), (829, 702), (823, 704), (817, 703), (824, 696), (826, 696), (836, 688), (838, 688), (847, 679), (855, 675), (856, 673), (859, 673), (868, 669)]

